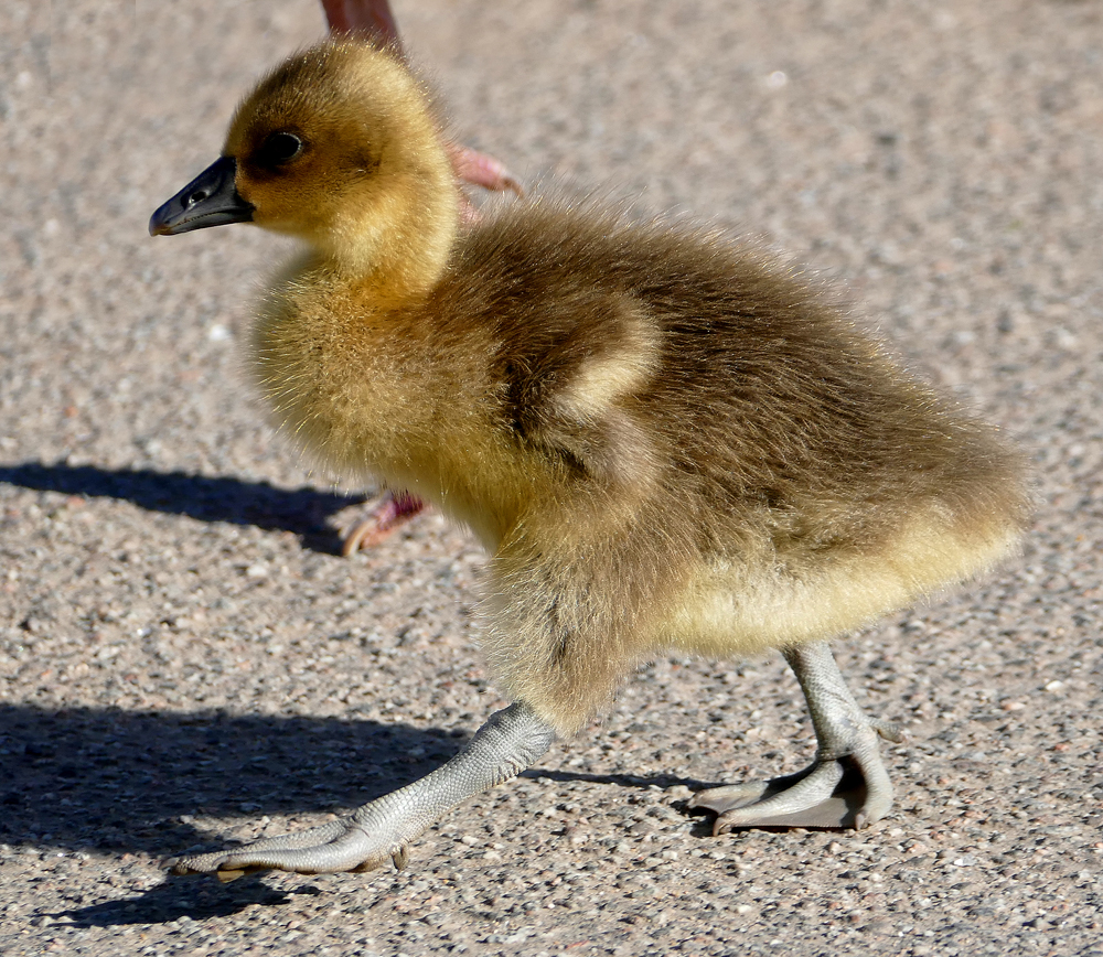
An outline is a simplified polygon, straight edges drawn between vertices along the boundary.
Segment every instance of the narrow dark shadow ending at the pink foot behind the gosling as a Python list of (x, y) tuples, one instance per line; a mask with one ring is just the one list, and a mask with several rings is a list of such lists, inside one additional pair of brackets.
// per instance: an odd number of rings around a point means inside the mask
[(0, 466), (0, 482), (39, 492), (119, 498), (150, 512), (186, 515), (200, 521), (226, 521), (291, 531), (306, 548), (326, 555), (341, 550), (336, 529), (326, 524), (338, 512), (365, 501), (363, 495), (315, 488), (276, 488), (267, 482), (95, 465), (44, 465), (23, 462)]

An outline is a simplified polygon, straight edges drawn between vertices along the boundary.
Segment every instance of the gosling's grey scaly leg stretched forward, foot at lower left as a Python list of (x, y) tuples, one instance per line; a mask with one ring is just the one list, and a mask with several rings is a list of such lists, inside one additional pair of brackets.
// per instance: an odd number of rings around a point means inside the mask
[(165, 867), (174, 874), (213, 873), (224, 882), (247, 871), (371, 871), (388, 860), (401, 870), (410, 841), (469, 797), (516, 777), (554, 738), (532, 708), (517, 702), (492, 714), (447, 764), (346, 818), (240, 848), (173, 858)]

